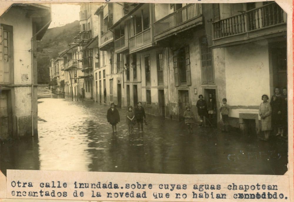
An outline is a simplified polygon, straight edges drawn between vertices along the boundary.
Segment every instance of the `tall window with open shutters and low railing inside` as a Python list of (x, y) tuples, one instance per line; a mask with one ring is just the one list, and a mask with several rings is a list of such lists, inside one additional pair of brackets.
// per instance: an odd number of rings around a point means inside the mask
[(175, 86), (191, 85), (189, 46), (173, 51)]

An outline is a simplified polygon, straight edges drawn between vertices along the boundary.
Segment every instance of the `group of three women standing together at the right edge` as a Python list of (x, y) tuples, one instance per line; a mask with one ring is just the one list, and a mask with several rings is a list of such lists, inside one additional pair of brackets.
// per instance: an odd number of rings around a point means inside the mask
[(269, 100), (268, 95), (262, 95), (263, 100), (259, 106), (259, 115), (261, 117), (261, 130), (264, 132), (262, 140), (267, 141), (270, 137), (270, 131), (276, 132), (275, 136), (287, 137), (285, 133), (288, 129), (288, 102), (287, 88), (275, 88), (275, 95)]

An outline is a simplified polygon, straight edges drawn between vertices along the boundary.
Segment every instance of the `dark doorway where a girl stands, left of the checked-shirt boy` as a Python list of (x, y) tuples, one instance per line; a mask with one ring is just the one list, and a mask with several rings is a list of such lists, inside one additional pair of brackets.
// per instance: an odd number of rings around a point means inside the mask
[[(209, 95), (212, 95), (212, 98), (213, 100), (210, 100), (209, 99)], [(210, 125), (210, 126), (217, 126), (217, 104), (216, 104), (216, 100), (217, 100), (217, 97), (216, 97), (216, 89), (204, 89), (204, 100), (206, 101), (207, 103), (207, 107), (209, 105), (214, 105), (214, 113), (213, 114), (208, 114), (207, 116), (207, 121), (208, 123), (206, 122), (206, 124)]]

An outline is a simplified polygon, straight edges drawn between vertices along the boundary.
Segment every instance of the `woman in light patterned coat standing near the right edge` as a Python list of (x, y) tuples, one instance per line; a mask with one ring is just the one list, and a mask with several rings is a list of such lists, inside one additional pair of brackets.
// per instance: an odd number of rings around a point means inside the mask
[(262, 140), (267, 141), (270, 137), (270, 131), (272, 129), (272, 107), (268, 102), (268, 95), (262, 95), (261, 100), (263, 100), (263, 102), (259, 105), (259, 115), (261, 117), (261, 130), (264, 132), (264, 138)]

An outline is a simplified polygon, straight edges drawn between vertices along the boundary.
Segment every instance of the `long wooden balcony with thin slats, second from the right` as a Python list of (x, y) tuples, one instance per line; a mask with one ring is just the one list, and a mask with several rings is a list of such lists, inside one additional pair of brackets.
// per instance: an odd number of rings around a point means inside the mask
[(202, 23), (201, 4), (188, 4), (154, 23), (154, 40), (161, 40)]

